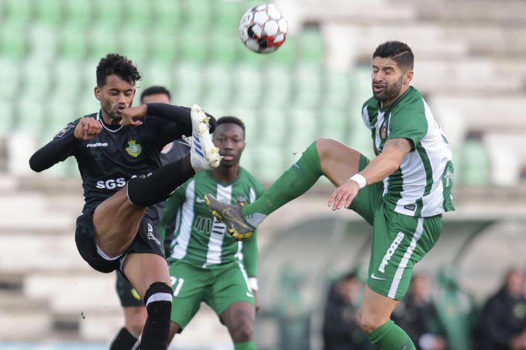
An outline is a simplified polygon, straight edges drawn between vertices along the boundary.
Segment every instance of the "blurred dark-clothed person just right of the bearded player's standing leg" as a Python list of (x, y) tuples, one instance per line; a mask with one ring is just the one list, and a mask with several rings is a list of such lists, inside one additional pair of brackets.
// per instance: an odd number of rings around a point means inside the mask
[(392, 313), (392, 320), (405, 329), (416, 349), (446, 349), (425, 275), (414, 273), (408, 294)]

